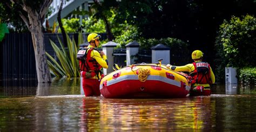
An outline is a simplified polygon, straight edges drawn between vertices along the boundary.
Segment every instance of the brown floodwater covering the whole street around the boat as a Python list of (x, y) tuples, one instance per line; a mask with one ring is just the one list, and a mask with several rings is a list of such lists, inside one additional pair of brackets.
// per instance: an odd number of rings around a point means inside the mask
[(255, 86), (176, 99), (84, 97), (79, 79), (0, 87), (0, 131), (255, 131)]

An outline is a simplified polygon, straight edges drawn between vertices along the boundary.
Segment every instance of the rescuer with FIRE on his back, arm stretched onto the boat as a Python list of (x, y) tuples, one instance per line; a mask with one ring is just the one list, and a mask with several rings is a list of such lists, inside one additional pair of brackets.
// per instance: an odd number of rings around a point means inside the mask
[(193, 63), (186, 64), (184, 66), (166, 65), (173, 71), (185, 71), (189, 72), (191, 79), (191, 91), (190, 96), (210, 96), (211, 84), (215, 83), (215, 76), (213, 74), (210, 64), (203, 62), (204, 53), (200, 50), (194, 50), (192, 53)]

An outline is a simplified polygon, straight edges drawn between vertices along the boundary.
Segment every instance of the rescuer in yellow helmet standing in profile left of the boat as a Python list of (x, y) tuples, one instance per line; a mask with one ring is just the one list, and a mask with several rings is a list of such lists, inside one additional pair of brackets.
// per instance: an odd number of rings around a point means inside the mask
[[(107, 57), (104, 52), (99, 52), (96, 48), (99, 46), (100, 35), (91, 33), (87, 37), (90, 43), (80, 53), (85, 53), (83, 60), (79, 60), (80, 75), (83, 77), (83, 90), (86, 97), (100, 96), (99, 80), (102, 77), (102, 68), (108, 68)], [(79, 54), (78, 52), (78, 54)]]

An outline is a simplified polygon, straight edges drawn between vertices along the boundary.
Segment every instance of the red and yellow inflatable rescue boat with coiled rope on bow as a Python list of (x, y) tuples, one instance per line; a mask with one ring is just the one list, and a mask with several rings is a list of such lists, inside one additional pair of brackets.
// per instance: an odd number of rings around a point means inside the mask
[(105, 98), (185, 98), (187, 75), (158, 64), (133, 64), (111, 72), (100, 81)]

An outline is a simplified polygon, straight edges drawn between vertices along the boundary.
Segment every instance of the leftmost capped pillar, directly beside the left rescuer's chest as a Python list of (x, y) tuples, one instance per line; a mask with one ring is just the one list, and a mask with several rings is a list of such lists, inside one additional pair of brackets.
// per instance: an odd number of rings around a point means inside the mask
[(113, 41), (109, 41), (109, 42), (105, 43), (104, 45), (102, 45), (103, 52), (106, 54), (107, 61), (109, 62), (109, 68), (107, 68), (107, 69), (103, 68), (104, 75), (113, 71), (113, 68), (112, 68), (113, 64), (114, 64), (113, 52), (114, 52), (114, 47), (116, 47), (116, 46), (117, 46), (117, 43), (113, 42)]

